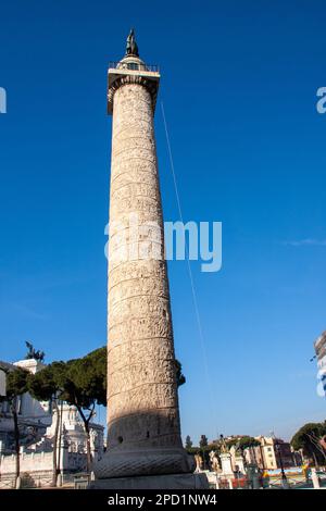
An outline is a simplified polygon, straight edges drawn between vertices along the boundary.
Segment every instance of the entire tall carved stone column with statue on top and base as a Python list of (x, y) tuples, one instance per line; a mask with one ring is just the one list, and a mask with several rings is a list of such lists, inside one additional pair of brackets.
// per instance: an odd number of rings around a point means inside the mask
[(108, 450), (91, 488), (205, 487), (180, 439), (153, 125), (159, 80), (131, 30), (126, 55), (109, 67)]

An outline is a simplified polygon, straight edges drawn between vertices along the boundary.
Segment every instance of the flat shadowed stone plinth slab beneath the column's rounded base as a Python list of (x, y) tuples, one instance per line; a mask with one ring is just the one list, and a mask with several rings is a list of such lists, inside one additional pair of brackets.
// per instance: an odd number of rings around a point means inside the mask
[(208, 489), (205, 474), (164, 474), (92, 481), (88, 489)]

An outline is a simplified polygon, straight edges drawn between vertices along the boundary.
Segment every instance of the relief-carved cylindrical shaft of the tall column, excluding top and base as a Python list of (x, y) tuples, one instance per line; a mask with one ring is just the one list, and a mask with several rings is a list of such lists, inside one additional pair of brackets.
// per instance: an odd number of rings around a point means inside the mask
[[(123, 85), (114, 95), (113, 112), (109, 446), (180, 448), (151, 95), (142, 84)], [(152, 227), (147, 227), (148, 222)], [(146, 253), (147, 248), (154, 253)], [(154, 254), (160, 259), (152, 259)]]

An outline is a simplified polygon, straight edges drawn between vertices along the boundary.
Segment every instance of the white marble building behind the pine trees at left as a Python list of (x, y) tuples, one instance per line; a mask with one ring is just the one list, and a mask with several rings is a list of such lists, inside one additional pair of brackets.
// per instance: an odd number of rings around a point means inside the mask
[[(5, 376), (15, 366), (36, 373), (45, 364), (27, 359), (9, 364), (0, 361), (0, 395), (5, 396)], [(61, 421), (58, 460), (62, 474), (68, 476), (86, 470), (87, 443), (83, 421), (76, 407), (60, 406)], [(52, 479), (55, 410), (49, 401), (37, 401), (28, 392), (18, 398), (21, 434), (21, 474), (28, 474), (35, 486), (48, 486)], [(103, 426), (90, 423), (90, 448), (95, 461), (103, 453)], [(0, 488), (12, 487), (15, 473), (14, 424), (10, 403), (0, 401)]]

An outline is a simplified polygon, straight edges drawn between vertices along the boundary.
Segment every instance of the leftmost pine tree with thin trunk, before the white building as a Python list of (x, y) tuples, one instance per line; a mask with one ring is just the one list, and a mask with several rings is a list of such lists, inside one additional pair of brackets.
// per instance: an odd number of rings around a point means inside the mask
[(27, 391), (27, 371), (22, 367), (16, 367), (13, 371), (7, 371), (5, 378), (5, 396), (1, 400), (8, 401), (13, 416), (14, 423), (14, 444), (15, 444), (15, 486), (20, 487), (21, 474), (21, 434), (18, 424), (18, 407), (20, 398)]

